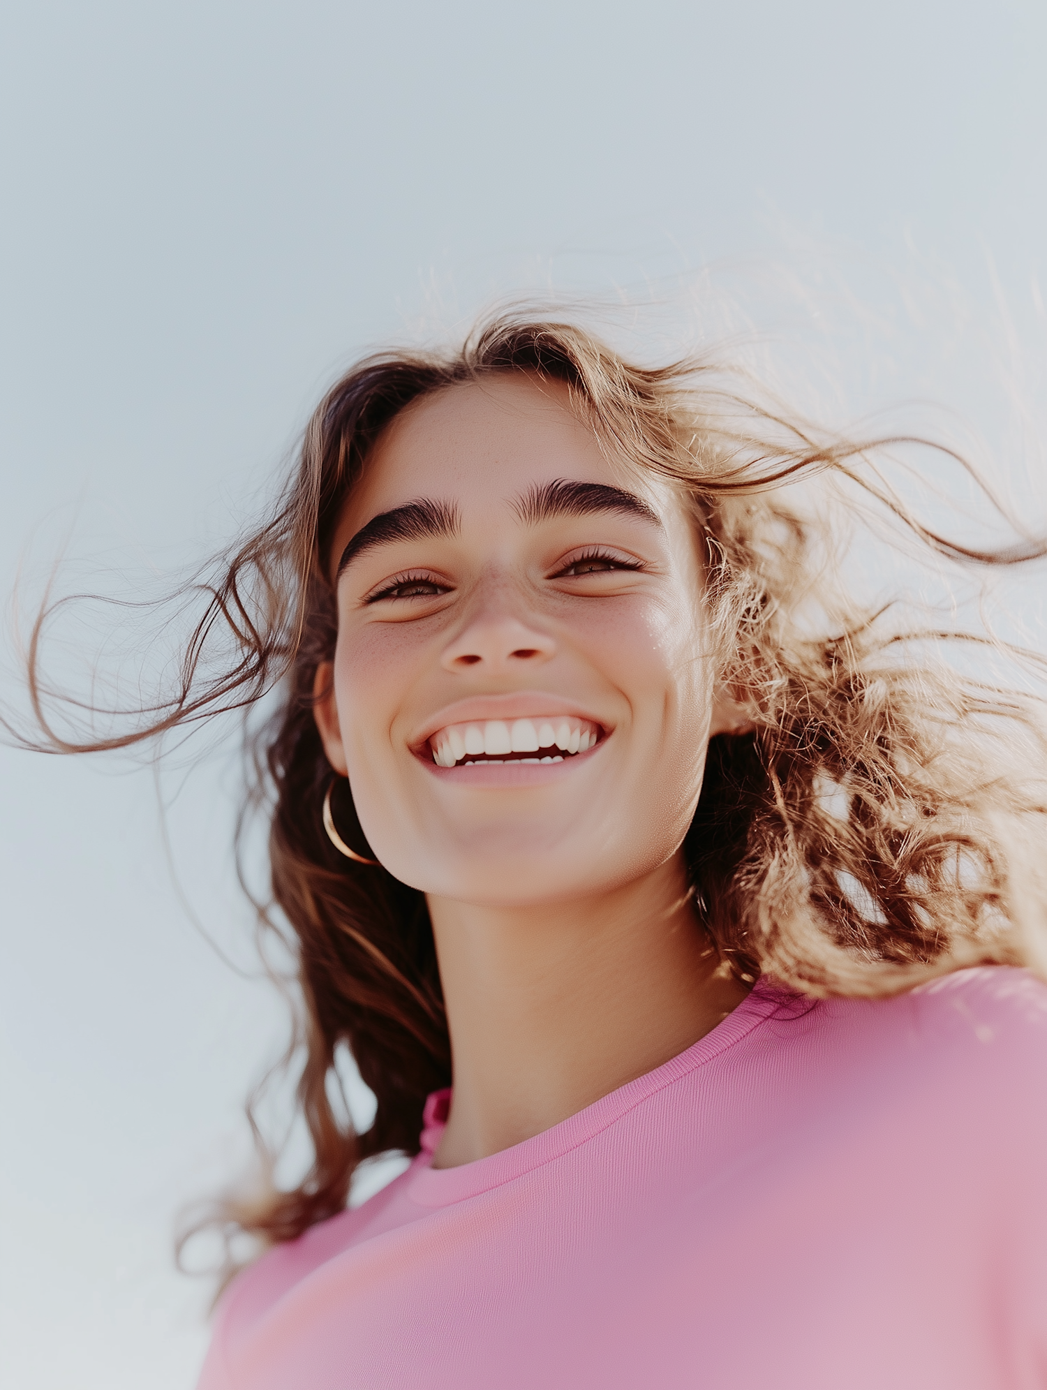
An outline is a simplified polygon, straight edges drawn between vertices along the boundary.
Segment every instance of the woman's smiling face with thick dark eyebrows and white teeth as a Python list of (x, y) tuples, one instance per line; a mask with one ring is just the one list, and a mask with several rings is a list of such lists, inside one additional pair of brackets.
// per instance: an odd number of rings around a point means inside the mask
[(731, 717), (694, 527), (672, 485), (605, 457), (565, 386), (506, 373), (402, 411), (331, 563), (317, 723), (392, 874), (526, 905), (679, 849)]

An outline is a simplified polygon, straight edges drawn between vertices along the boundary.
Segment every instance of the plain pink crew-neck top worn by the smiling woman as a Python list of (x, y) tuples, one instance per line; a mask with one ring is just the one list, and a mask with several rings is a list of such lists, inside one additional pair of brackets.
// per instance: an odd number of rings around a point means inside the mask
[(1047, 987), (761, 981), (694, 1047), (502, 1154), (270, 1251), (200, 1390), (1047, 1386)]

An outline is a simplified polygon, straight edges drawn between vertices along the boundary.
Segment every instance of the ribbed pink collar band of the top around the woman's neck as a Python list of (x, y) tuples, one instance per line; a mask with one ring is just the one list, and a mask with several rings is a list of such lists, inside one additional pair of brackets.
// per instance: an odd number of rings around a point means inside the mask
[[(627, 1081), (594, 1101), (592, 1105), (587, 1105), (577, 1115), (560, 1120), (559, 1125), (553, 1125), (552, 1129), (544, 1130), (533, 1138), (457, 1168), (432, 1168), (432, 1154), (444, 1131), (451, 1097), (449, 1090), (434, 1091), (425, 1102), (421, 1152), (412, 1163), (409, 1173), (405, 1175), (407, 1194), (423, 1207), (445, 1207), (501, 1187), (514, 1177), (521, 1177), (542, 1163), (549, 1163), (577, 1148), (578, 1144), (584, 1144), (648, 1095), (654, 1095), (681, 1076), (687, 1076), (688, 1072), (694, 1072), (695, 1068), (711, 1062), (726, 1048), (740, 1042), (784, 1004), (795, 1001), (795, 994), (783, 990), (781, 986), (765, 976), (715, 1029), (677, 1056), (655, 1068), (654, 1072), (645, 1072), (644, 1076)], [(809, 1002), (805, 1001), (808, 1005)]]

